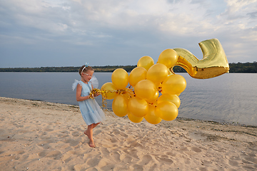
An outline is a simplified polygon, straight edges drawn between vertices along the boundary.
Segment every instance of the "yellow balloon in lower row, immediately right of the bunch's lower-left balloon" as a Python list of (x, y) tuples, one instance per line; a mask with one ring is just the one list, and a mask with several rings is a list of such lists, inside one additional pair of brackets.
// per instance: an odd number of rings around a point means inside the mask
[(129, 112), (137, 117), (143, 117), (148, 113), (148, 103), (138, 97), (129, 100)]

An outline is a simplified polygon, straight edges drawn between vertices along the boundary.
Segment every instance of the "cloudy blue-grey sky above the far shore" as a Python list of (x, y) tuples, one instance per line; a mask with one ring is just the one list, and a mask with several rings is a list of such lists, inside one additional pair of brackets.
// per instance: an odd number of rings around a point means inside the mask
[(257, 0), (0, 0), (0, 68), (155, 63), (218, 38), (228, 63), (257, 61)]

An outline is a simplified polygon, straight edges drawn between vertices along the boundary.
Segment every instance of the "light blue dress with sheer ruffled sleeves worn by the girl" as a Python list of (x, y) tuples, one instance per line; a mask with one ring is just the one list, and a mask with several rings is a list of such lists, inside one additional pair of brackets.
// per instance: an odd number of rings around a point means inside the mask
[[(89, 95), (92, 89), (91, 82), (89, 81), (86, 84), (83, 81), (78, 81), (78, 83), (82, 86), (81, 96)], [(105, 120), (104, 111), (101, 110), (99, 104), (94, 98), (79, 101), (79, 109), (81, 110), (82, 118), (86, 122), (86, 125), (100, 123)]]

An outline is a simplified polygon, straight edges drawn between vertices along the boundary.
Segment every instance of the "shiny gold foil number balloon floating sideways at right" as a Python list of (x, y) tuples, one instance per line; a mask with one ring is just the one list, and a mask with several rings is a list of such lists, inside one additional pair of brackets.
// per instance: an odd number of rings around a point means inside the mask
[(176, 66), (181, 66), (191, 77), (198, 79), (213, 78), (228, 73), (228, 60), (218, 39), (201, 41), (199, 46), (203, 51), (201, 60), (184, 48), (173, 48), (178, 54)]

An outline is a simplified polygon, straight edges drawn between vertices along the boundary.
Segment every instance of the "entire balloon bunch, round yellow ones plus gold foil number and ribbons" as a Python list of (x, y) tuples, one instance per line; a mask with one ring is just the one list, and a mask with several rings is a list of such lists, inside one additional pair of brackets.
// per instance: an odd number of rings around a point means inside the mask
[(128, 115), (133, 123), (140, 123), (143, 118), (151, 124), (174, 120), (181, 104), (178, 95), (185, 90), (186, 80), (173, 73), (173, 66), (181, 66), (198, 79), (228, 73), (228, 61), (218, 39), (202, 41), (199, 45), (203, 51), (201, 60), (186, 49), (168, 48), (161, 52), (157, 63), (150, 56), (140, 58), (130, 74), (122, 68), (116, 69), (111, 75), (112, 82), (91, 93), (114, 99), (114, 113), (120, 117)]

